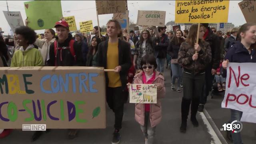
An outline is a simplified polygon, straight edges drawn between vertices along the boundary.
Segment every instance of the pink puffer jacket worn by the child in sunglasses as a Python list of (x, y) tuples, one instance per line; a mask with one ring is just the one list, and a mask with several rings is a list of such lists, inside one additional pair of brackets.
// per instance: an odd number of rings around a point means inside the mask
[[(143, 84), (142, 82), (142, 71), (134, 76), (134, 84)], [(159, 72), (156, 71), (156, 78), (153, 84), (161, 83), (163, 88), (157, 91), (157, 103), (150, 104), (150, 123), (151, 127), (155, 127), (160, 123), (162, 118), (162, 106), (160, 98), (165, 96), (165, 86), (164, 86), (164, 77), (159, 75)], [(145, 105), (144, 104), (135, 104), (135, 120), (144, 126), (145, 118)]]

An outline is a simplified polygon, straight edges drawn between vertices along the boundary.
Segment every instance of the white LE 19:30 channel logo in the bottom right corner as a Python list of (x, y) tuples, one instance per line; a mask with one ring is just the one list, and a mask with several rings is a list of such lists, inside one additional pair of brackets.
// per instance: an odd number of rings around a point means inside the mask
[(238, 120), (234, 120), (233, 122), (231, 122), (231, 124), (223, 124), (222, 126), (223, 128), (220, 128), (220, 130), (224, 130), (224, 131), (228, 130), (228, 131), (232, 131), (232, 133), (241, 132), (243, 129), (242, 122)]

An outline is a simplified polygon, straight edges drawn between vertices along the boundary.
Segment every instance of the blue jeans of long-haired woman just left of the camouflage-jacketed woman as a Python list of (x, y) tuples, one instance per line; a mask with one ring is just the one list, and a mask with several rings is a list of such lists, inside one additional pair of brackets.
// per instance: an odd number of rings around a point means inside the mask
[(172, 68), (172, 84), (175, 85), (175, 80), (178, 78), (178, 87), (180, 86), (180, 82), (182, 79), (182, 69), (179, 64), (171, 64)]

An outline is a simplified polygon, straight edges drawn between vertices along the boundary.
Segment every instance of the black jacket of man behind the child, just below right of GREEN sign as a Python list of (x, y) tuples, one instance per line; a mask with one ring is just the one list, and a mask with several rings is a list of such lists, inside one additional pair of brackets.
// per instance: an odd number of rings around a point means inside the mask
[[(156, 58), (166, 58), (167, 48), (169, 46), (169, 39), (166, 34), (162, 34), (162, 37), (156, 37), (154, 39), (154, 54)], [(158, 45), (156, 45), (158, 43)]]

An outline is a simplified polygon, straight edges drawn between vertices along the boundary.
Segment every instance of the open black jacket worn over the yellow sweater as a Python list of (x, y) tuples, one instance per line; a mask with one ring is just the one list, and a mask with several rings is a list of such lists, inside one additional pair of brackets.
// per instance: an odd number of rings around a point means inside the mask
[[(98, 65), (100, 67), (107, 67), (107, 52), (108, 52), (108, 39), (104, 42), (101, 42), (98, 46)], [(120, 80), (122, 87), (125, 89), (127, 84), (127, 74), (132, 66), (131, 61), (131, 51), (128, 42), (118, 39), (118, 58), (119, 66), (122, 67), (122, 70), (119, 72)], [(108, 86), (108, 74), (106, 76), (106, 86)]]

